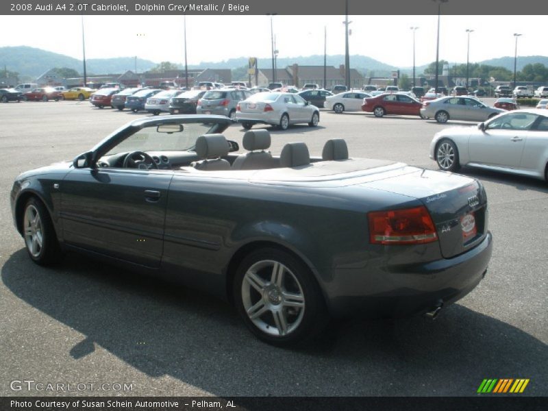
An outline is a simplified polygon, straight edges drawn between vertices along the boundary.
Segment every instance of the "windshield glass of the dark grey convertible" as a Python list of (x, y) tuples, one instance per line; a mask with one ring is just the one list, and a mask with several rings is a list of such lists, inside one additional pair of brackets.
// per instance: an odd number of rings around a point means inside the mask
[(158, 132), (157, 125), (139, 129), (105, 155), (130, 151), (186, 151), (193, 149), (203, 134), (216, 131), (216, 123), (184, 123), (182, 132)]

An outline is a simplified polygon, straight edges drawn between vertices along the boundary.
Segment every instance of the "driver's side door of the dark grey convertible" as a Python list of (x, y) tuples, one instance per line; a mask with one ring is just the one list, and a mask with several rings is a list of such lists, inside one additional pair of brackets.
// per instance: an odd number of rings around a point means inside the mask
[(64, 240), (137, 264), (159, 266), (172, 177), (171, 171), (71, 171), (60, 185)]

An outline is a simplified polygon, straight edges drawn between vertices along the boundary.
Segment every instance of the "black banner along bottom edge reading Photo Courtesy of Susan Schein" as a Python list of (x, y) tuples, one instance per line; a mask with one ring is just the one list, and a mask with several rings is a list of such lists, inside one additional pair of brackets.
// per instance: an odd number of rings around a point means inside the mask
[(0, 397), (1, 411), (540, 411), (548, 397)]

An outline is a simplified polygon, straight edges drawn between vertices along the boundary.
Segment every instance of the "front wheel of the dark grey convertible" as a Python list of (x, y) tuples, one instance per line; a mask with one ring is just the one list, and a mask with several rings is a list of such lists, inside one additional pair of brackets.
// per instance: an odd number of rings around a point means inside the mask
[(25, 204), (22, 218), (23, 239), (29, 257), (40, 265), (59, 262), (61, 248), (49, 212), (42, 202), (31, 197)]

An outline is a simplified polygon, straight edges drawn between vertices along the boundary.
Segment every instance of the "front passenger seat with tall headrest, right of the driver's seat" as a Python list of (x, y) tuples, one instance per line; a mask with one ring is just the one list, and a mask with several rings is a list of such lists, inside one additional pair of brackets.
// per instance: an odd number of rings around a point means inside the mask
[(264, 151), (268, 149), (271, 144), (269, 130), (249, 130), (248, 132), (245, 132), (242, 143), (249, 153), (238, 155), (238, 158), (236, 158), (232, 164), (232, 169), (261, 170), (275, 168), (276, 161), (272, 158), (271, 153), (269, 151)]

